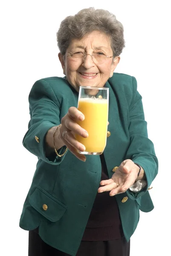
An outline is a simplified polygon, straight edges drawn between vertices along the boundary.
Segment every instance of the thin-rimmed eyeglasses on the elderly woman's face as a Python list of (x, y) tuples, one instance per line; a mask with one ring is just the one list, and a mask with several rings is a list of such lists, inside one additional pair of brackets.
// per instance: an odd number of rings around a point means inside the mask
[(106, 56), (103, 52), (93, 52), (93, 54), (85, 52), (67, 52), (69, 57), (75, 61), (81, 60), (84, 61), (86, 55), (90, 55), (93, 62), (103, 63), (107, 58), (112, 58), (113, 56)]

